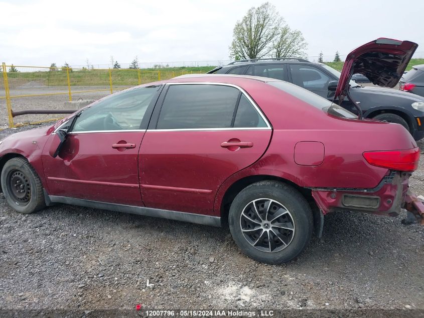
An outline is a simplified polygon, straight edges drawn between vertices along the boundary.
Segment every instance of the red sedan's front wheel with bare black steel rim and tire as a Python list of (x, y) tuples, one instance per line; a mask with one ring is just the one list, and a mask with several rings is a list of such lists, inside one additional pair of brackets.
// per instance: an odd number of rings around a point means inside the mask
[(9, 205), (19, 213), (33, 213), (46, 206), (40, 177), (27, 159), (15, 157), (8, 160), (2, 170), (1, 182)]

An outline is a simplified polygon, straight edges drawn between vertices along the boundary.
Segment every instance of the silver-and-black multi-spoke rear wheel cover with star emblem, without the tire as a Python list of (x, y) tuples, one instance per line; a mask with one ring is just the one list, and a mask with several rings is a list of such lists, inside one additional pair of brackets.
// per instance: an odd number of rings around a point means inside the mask
[(240, 215), (244, 238), (263, 252), (284, 250), (292, 242), (295, 223), (290, 211), (281, 203), (260, 198), (250, 201)]

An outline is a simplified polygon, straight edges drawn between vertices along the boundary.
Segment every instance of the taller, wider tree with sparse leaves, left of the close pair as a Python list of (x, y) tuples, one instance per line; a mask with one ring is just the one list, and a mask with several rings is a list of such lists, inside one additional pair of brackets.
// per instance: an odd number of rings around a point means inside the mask
[(275, 7), (268, 2), (258, 8), (250, 8), (234, 27), (230, 57), (253, 59), (269, 54), (282, 22)]

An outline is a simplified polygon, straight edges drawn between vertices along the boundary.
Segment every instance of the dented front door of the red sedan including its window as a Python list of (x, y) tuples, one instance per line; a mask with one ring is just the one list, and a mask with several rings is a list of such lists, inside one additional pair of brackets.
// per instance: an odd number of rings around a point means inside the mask
[[(49, 195), (143, 205), (138, 150), (159, 89), (130, 89), (85, 109), (56, 158), (49, 154), (50, 136), (42, 156)], [(69, 129), (69, 122), (62, 128)]]

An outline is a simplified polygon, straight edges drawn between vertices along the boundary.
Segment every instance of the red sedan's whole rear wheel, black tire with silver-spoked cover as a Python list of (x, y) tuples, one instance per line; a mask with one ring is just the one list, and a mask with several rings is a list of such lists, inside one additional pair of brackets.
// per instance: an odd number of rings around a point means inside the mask
[[(254, 207), (257, 208), (255, 216), (259, 217), (256, 219), (251, 217)], [(272, 213), (272, 209), (276, 211)], [(276, 221), (272, 220), (281, 213), (284, 215), (276, 217)], [(252, 220), (262, 224), (259, 226)], [(228, 223), (238, 247), (247, 256), (267, 264), (286, 263), (297, 257), (308, 245), (313, 232), (312, 211), (305, 197), (295, 188), (278, 181), (260, 181), (241, 190), (231, 203)], [(283, 224), (289, 225), (289, 228), (293, 224), (293, 230), (274, 227)], [(252, 226), (253, 230), (249, 230)], [(253, 232), (256, 233), (250, 234)], [(259, 241), (256, 246), (252, 244), (254, 240)]]

